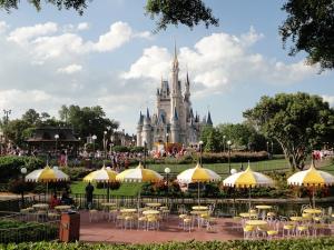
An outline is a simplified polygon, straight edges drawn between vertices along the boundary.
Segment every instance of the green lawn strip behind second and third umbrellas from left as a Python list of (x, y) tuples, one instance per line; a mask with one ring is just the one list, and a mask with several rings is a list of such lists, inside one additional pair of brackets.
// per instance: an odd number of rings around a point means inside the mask
[[(85, 188), (87, 182), (73, 181), (71, 183), (72, 193), (85, 193)], [(110, 190), (110, 196), (137, 196), (138, 191), (141, 189), (141, 183), (121, 183), (119, 189)], [(107, 194), (107, 189), (97, 189), (95, 186), (94, 194)]]

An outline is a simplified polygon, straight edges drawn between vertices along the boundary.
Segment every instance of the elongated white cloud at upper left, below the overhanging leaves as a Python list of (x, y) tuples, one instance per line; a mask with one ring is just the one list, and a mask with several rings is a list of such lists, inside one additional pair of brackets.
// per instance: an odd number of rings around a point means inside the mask
[(57, 30), (58, 26), (55, 22), (36, 24), (32, 27), (21, 27), (10, 32), (8, 40), (24, 44), (36, 37), (55, 33)]

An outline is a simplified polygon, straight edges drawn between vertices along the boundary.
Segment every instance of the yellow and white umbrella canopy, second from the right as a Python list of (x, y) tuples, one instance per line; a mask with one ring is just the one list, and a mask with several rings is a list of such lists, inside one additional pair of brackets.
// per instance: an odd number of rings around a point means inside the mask
[(248, 163), (245, 171), (227, 177), (223, 184), (235, 188), (272, 187), (274, 186), (274, 180), (266, 174), (253, 171)]

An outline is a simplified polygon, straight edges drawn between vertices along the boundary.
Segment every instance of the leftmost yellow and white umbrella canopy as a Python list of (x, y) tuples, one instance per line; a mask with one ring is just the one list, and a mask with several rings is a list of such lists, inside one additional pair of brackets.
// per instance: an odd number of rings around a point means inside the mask
[(31, 173), (26, 176), (26, 181), (31, 182), (57, 182), (68, 181), (69, 177), (58, 169), (58, 167), (50, 168), (47, 166), (43, 169), (33, 170)]

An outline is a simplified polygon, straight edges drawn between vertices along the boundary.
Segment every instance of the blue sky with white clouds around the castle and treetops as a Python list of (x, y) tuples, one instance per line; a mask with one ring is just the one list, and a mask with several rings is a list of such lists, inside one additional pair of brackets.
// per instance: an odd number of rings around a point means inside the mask
[[(42, 1), (43, 3), (43, 1)], [(58, 118), (62, 104), (101, 106), (136, 133), (139, 111), (155, 109), (176, 43), (180, 80), (188, 71), (193, 109), (214, 124), (242, 122), (262, 96), (318, 94), (334, 107), (334, 72), (318, 73), (305, 53), (287, 56), (278, 34), (282, 1), (207, 0), (219, 27), (169, 26), (154, 33), (145, 0), (94, 0), (82, 16), (21, 1), (0, 11), (0, 110), (29, 108)]]

